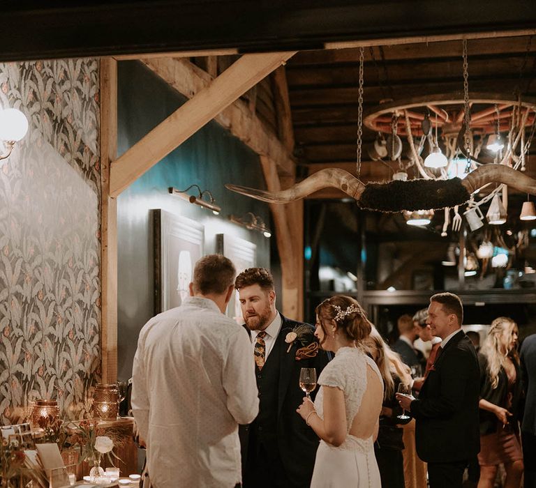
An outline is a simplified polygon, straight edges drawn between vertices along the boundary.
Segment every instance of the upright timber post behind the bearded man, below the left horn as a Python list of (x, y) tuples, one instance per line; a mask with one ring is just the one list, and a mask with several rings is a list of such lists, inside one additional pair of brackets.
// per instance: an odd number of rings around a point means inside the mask
[[(260, 156), (260, 164), (267, 189), (271, 192), (281, 190), (281, 181), (274, 162), (266, 156)], [(304, 308), (303, 202), (270, 204), (270, 209), (276, 226), (276, 243), (281, 259), (281, 310), (285, 317), (301, 320)]]

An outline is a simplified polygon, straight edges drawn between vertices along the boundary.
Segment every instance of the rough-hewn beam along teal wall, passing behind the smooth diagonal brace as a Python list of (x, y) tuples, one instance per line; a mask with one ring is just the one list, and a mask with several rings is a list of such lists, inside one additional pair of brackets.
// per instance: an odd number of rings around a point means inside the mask
[[(222, 61), (222, 59), (218, 59)], [(144, 59), (142, 62), (165, 82), (188, 98), (205, 89), (211, 82), (209, 75), (186, 59)], [(221, 68), (221, 66), (220, 66)], [(274, 161), (278, 174), (293, 176), (295, 162), (274, 132), (253, 114), (243, 100), (216, 115), (214, 121), (259, 155)]]

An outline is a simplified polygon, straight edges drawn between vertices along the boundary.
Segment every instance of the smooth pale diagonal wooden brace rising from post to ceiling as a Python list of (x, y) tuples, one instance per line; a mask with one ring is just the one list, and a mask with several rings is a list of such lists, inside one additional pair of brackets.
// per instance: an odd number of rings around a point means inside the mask
[(188, 137), (269, 75), (294, 52), (246, 54), (194, 98), (112, 163), (110, 196), (117, 197), (145, 171), (156, 165)]

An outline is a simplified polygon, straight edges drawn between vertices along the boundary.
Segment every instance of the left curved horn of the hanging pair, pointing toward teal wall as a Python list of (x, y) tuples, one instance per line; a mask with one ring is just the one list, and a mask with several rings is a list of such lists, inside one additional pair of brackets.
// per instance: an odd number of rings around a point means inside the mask
[(225, 188), (233, 192), (273, 204), (285, 204), (289, 201), (299, 200), (311, 195), (313, 192), (322, 190), (322, 188), (330, 187), (338, 188), (356, 200), (361, 198), (365, 189), (365, 185), (355, 176), (344, 169), (338, 168), (321, 169), (305, 178), (304, 181), (300, 181), (287, 190), (281, 190), (280, 192), (269, 192), (240, 185), (225, 185)]

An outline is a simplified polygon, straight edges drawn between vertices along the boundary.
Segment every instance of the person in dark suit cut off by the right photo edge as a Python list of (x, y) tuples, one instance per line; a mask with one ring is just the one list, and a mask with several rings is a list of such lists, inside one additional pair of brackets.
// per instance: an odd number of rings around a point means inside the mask
[(525, 486), (536, 488), (536, 334), (529, 335), (521, 344), (521, 381), (525, 391), (525, 411), (521, 423), (523, 459), (525, 459)]

